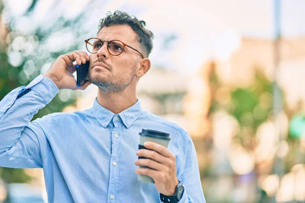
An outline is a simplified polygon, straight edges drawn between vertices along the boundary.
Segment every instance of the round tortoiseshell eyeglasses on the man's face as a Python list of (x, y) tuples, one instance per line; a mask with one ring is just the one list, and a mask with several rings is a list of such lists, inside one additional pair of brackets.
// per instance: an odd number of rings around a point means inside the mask
[(129, 47), (141, 54), (142, 58), (144, 58), (141, 52), (119, 40), (102, 41), (98, 38), (90, 38), (88, 40), (85, 40), (86, 48), (88, 52), (92, 54), (98, 53), (99, 49), (104, 45), (104, 42), (107, 42), (107, 50), (112, 56), (120, 55), (125, 47)]

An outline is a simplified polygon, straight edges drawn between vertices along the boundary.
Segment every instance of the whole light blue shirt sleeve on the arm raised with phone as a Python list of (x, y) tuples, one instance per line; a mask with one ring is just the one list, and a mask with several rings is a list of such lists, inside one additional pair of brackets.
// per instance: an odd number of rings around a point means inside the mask
[(43, 160), (50, 151), (46, 134), (53, 119), (48, 115), (30, 121), (58, 91), (49, 78), (40, 75), (0, 101), (0, 166), (43, 167)]

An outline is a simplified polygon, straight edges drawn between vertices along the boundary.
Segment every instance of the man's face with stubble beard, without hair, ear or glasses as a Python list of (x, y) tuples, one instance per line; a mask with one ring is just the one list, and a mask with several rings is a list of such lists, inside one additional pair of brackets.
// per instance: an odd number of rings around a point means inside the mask
[[(140, 50), (136, 32), (128, 25), (103, 27), (97, 38), (102, 41), (120, 40)], [(125, 47), (118, 56), (113, 56), (105, 42), (98, 53), (90, 55), (89, 81), (108, 93), (123, 91), (135, 80), (140, 59), (141, 55), (129, 47)]]

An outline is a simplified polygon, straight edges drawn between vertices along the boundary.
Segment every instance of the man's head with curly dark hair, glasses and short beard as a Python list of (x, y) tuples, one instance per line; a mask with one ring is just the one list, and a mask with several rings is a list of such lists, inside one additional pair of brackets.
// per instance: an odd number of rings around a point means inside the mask
[[(108, 93), (136, 86), (139, 78), (150, 68), (147, 57), (153, 48), (153, 32), (144, 26), (144, 21), (120, 11), (108, 12), (100, 20), (97, 39), (87, 43), (88, 51), (92, 52), (88, 75), (90, 82)], [(108, 44), (112, 40), (120, 42)]]

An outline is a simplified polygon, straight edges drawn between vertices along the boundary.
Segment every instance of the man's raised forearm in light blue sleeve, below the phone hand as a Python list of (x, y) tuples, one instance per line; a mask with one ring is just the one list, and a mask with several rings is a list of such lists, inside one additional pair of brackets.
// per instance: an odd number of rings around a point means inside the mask
[(40, 75), (26, 87), (16, 88), (0, 101), (0, 153), (14, 145), (23, 128), (57, 92), (55, 84)]

